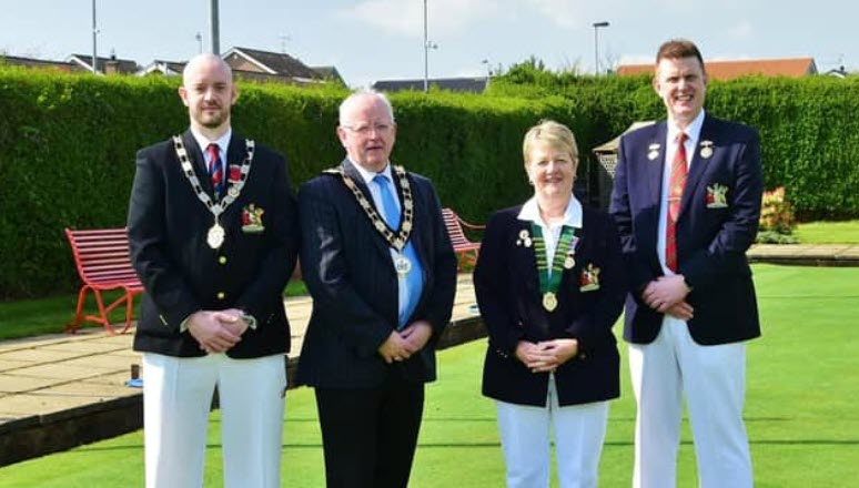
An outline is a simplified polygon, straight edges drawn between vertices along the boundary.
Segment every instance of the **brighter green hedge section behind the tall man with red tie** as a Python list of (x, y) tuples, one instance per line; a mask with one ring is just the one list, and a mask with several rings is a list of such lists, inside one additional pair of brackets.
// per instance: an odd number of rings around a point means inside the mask
[[(575, 77), (526, 68), (491, 87), (496, 96), (560, 95), (584, 103), (592, 128), (577, 133), (584, 148), (610, 140), (633, 121), (665, 119), (647, 75)], [(760, 132), (765, 185), (785, 186), (800, 218), (859, 216), (859, 77), (715, 81), (705, 108)]]

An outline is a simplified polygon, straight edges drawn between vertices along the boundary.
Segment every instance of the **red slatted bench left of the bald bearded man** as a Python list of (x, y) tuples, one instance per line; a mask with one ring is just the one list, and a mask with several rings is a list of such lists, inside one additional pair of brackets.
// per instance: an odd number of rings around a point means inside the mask
[[(125, 305), (125, 326), (121, 333), (131, 327), (134, 295), (143, 293), (143, 285), (138, 278), (129, 260), (129, 236), (125, 228), (99, 228), (89, 231), (65, 230), (65, 236), (74, 255), (78, 275), (83, 281), (78, 293), (78, 307), (74, 319), (65, 325), (65, 332), (75, 333), (82, 321), (95, 322), (104, 326), (109, 334), (117, 331), (110, 324), (110, 313), (118, 306)], [(122, 288), (125, 293), (113, 303), (104, 306), (101, 292)], [(99, 315), (84, 315), (83, 304), (87, 292), (92, 291), (99, 306)]]

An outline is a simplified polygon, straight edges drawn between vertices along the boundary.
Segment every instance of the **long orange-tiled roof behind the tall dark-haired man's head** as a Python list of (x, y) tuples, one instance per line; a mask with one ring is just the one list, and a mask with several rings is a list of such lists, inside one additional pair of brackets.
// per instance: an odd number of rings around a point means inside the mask
[[(707, 75), (711, 80), (731, 80), (751, 74), (790, 78), (817, 74), (817, 65), (813, 58), (705, 61), (704, 65), (707, 69)], [(617, 68), (617, 74), (620, 77), (653, 74), (653, 64), (621, 64)]]

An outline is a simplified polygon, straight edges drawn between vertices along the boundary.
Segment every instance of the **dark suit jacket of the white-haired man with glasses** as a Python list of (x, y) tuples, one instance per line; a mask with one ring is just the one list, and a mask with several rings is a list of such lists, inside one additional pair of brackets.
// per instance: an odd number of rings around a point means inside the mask
[[(367, 201), (370, 190), (355, 166), (341, 167)], [(397, 192), (402, 202), (402, 190)], [(411, 240), (424, 270), (424, 289), (408, 321), (425, 319), (433, 339), (408, 360), (387, 365), (377, 353), (397, 326), (397, 277), (385, 240), (337, 175), (323, 174), (299, 192), (302, 275), (313, 313), (299, 360), (299, 382), (323, 388), (366, 388), (388, 374), (407, 382), (435, 379), (434, 340), (451, 319), (456, 256), (429, 180), (408, 173), (415, 204)]]

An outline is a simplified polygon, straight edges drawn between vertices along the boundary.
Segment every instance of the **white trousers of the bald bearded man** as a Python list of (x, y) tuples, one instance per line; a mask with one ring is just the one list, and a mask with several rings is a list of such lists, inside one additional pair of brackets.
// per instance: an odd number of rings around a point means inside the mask
[(224, 487), (281, 486), (284, 356), (231, 359), (143, 354), (148, 488), (203, 486), (206, 427), (218, 385)]

